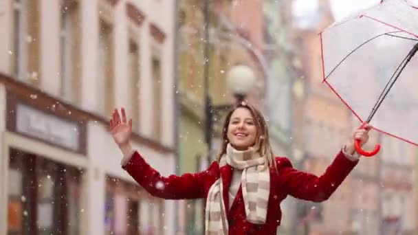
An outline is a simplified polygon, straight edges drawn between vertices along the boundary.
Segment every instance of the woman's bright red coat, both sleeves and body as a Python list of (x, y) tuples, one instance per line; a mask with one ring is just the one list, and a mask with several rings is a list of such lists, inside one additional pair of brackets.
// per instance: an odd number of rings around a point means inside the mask
[(206, 198), (212, 183), (221, 176), (229, 234), (276, 234), (277, 227), (281, 223), (280, 203), (287, 195), (315, 202), (325, 201), (340, 186), (358, 161), (350, 161), (340, 151), (320, 177), (292, 168), (289, 159), (285, 157), (276, 157), (276, 163), (277, 171), (274, 168), (270, 169), (270, 198), (267, 222), (264, 225), (255, 225), (245, 219), (241, 186), (229, 209), (228, 188), (232, 178), (231, 166), (219, 168), (219, 164), (215, 161), (203, 172), (162, 177), (139, 153), (135, 152), (123, 168), (151, 195), (162, 199)]

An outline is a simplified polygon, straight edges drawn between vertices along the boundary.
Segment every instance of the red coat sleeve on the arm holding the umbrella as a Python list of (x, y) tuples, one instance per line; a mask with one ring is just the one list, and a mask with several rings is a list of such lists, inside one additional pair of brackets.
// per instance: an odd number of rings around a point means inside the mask
[(350, 161), (340, 151), (320, 177), (296, 170), (285, 157), (276, 157), (276, 164), (280, 181), (288, 194), (298, 199), (320, 202), (331, 197), (358, 161)]

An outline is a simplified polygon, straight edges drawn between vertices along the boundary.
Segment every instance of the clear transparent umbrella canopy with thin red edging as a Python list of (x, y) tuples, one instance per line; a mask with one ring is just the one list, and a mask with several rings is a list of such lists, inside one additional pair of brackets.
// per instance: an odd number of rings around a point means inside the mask
[(382, 1), (334, 23), (320, 41), (323, 82), (359, 122), (418, 146), (417, 7)]

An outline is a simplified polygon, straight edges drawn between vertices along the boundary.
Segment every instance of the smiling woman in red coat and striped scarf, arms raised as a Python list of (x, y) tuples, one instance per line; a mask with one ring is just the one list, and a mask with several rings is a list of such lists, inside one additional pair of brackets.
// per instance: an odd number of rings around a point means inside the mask
[(280, 203), (291, 195), (325, 201), (358, 164), (353, 139), (365, 144), (371, 126), (355, 131), (325, 173), (316, 177), (274, 157), (263, 115), (249, 104), (228, 113), (217, 160), (203, 172), (162, 177), (130, 143), (132, 120), (113, 112), (110, 129), (124, 158), (122, 168), (145, 190), (163, 199), (206, 199), (205, 234), (276, 234)]

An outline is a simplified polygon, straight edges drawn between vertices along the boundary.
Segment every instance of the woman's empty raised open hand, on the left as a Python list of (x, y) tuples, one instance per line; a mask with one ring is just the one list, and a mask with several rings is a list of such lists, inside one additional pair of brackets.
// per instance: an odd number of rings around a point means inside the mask
[(119, 115), (118, 109), (115, 109), (112, 113), (110, 120), (110, 132), (113, 140), (118, 144), (122, 153), (126, 155), (132, 150), (131, 147), (131, 133), (132, 133), (132, 119), (126, 120), (126, 113), (124, 108), (120, 110), (122, 118)]

